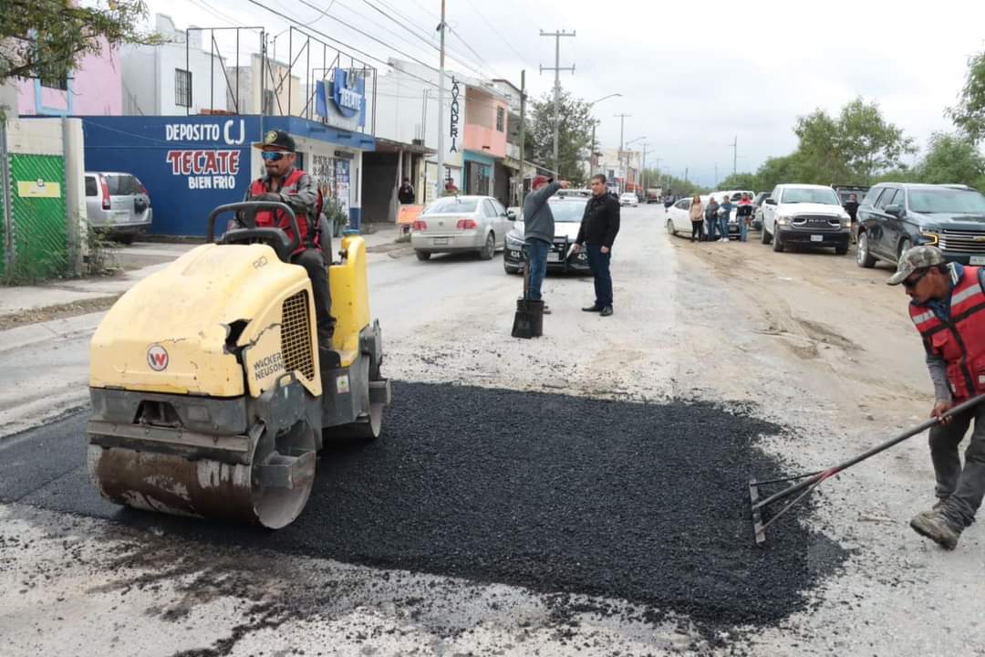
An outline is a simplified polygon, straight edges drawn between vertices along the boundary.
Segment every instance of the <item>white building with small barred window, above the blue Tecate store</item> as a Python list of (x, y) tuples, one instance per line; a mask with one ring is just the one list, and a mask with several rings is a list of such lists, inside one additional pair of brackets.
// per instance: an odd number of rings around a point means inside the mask
[(225, 110), (226, 62), (202, 47), (202, 31), (185, 32), (163, 14), (155, 17), (163, 45), (124, 45), (123, 113), (145, 116), (200, 114)]

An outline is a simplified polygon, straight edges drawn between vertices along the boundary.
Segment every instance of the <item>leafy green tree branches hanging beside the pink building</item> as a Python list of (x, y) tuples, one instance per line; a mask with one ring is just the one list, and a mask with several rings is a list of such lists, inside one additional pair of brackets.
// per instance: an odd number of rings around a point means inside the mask
[(60, 80), (103, 45), (161, 43), (138, 23), (144, 0), (105, 0), (105, 6), (72, 0), (3, 0), (0, 3), (0, 85), (11, 78)]

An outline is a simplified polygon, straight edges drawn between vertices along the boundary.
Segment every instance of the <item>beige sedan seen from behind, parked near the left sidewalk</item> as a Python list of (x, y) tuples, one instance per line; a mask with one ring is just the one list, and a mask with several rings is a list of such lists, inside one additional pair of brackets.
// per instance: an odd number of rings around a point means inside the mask
[(432, 201), (411, 225), (411, 246), (419, 260), (463, 251), (492, 260), (512, 224), (513, 216), (492, 196), (445, 196)]

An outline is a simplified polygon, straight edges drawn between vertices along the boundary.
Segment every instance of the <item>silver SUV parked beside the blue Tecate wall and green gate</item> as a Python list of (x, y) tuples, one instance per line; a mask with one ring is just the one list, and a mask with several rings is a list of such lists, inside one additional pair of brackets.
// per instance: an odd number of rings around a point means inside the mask
[(125, 244), (147, 232), (154, 220), (151, 197), (137, 176), (120, 171), (86, 171), (89, 225)]

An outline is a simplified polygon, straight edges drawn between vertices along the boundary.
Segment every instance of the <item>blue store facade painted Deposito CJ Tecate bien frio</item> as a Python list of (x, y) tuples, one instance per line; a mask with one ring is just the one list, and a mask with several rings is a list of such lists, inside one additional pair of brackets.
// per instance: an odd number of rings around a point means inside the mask
[[(339, 197), (350, 223), (361, 220), (361, 153), (372, 136), (295, 116), (84, 116), (86, 170), (126, 171), (147, 187), (151, 232), (201, 236), (209, 213), (241, 201), (263, 173), (252, 144), (269, 130), (297, 142), (298, 165), (326, 195)], [(326, 164), (327, 163), (327, 164)]]

